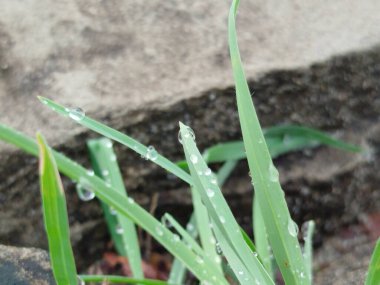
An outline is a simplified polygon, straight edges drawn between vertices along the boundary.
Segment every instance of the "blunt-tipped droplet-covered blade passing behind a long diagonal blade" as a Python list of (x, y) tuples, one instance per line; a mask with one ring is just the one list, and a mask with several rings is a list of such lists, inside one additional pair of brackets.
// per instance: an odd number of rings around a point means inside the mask
[[(112, 142), (109, 139), (101, 138), (90, 140), (87, 142), (90, 150), (90, 156), (95, 174), (102, 177), (103, 180), (109, 182), (111, 186), (118, 192), (127, 197), (124, 187), (123, 178), (121, 176), (116, 155), (112, 149)], [(131, 266), (133, 277), (144, 278), (140, 254), (140, 246), (138, 242), (136, 227), (134, 223), (125, 216), (118, 214), (112, 215), (108, 205), (102, 203), (105, 210), (106, 220), (112, 223), (109, 225), (111, 236), (115, 241), (121, 239), (121, 245), (125, 255)], [(116, 225), (114, 223), (116, 218)], [(119, 232), (121, 231), (121, 233)]]

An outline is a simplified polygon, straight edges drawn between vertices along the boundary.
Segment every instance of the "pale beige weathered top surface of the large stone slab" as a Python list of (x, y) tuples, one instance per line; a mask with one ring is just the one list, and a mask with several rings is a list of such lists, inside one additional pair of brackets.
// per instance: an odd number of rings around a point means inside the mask
[[(30, 135), (41, 130), (54, 145), (67, 141), (68, 128), (69, 137), (80, 130), (52, 120), (36, 95), (113, 121), (232, 85), (230, 1), (0, 4), (0, 120)], [(380, 43), (379, 10), (376, 0), (242, 1), (238, 35), (248, 77)]]

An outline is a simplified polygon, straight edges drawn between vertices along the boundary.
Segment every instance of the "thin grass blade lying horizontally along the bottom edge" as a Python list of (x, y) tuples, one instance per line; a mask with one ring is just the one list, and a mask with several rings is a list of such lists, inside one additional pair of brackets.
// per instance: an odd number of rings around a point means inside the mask
[(161, 280), (153, 279), (136, 279), (124, 276), (115, 275), (80, 275), (79, 276), (85, 282), (102, 282), (102, 284), (141, 284), (141, 285), (180, 285), (179, 283), (168, 283)]

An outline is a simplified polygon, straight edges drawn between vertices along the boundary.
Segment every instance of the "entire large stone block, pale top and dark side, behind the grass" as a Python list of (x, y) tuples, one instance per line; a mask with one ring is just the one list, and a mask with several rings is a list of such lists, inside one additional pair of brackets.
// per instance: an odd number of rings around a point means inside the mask
[[(201, 149), (240, 138), (228, 59), (229, 1), (3, 1), (0, 9), (0, 122), (48, 141), (89, 167), (85, 141), (96, 137), (44, 108), (43, 95), (183, 157), (178, 121)], [(378, 1), (242, 1), (238, 37), (264, 126), (297, 123), (361, 145), (366, 154), (318, 148), (276, 161), (297, 222), (319, 234), (378, 211), (380, 42)], [(347, 53), (356, 51), (354, 53)], [(343, 54), (335, 56), (337, 54)], [(184, 184), (115, 145), (128, 191), (157, 216), (185, 220)], [(0, 242), (46, 248), (37, 161), (0, 143)], [(239, 165), (225, 194), (249, 227), (251, 187)], [(244, 176), (247, 179), (241, 179)], [(98, 204), (78, 200), (64, 180), (79, 268), (105, 248)], [(20, 211), (22, 209), (22, 211)], [(91, 243), (91, 245), (89, 245)]]

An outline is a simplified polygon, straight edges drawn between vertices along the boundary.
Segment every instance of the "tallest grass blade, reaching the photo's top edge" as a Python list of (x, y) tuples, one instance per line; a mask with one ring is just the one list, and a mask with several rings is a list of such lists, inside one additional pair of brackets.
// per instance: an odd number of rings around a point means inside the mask
[(255, 198), (260, 204), (273, 254), (285, 283), (307, 285), (310, 281), (305, 278), (306, 268), (295, 234), (294, 222), (286, 205), (277, 169), (272, 163), (264, 140), (241, 64), (235, 30), (238, 4), (239, 1), (235, 0), (231, 5), (228, 35), (240, 126), (249, 169), (252, 173), (252, 182), (255, 185)]

